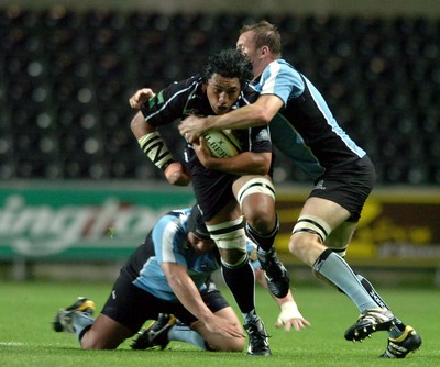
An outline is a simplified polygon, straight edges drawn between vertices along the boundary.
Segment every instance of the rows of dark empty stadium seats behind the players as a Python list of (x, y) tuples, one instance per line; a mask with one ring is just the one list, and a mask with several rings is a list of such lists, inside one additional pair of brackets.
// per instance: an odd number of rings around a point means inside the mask
[[(440, 21), (294, 15), (284, 57), (323, 91), (382, 185), (440, 182)], [(0, 178), (160, 179), (128, 99), (198, 73), (234, 46), (231, 14), (0, 9)], [(179, 137), (168, 136), (177, 152)], [(276, 181), (304, 182), (278, 155)]]

